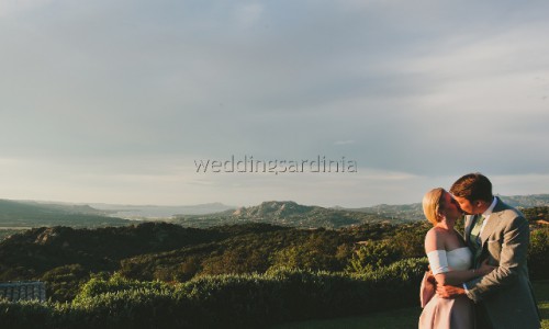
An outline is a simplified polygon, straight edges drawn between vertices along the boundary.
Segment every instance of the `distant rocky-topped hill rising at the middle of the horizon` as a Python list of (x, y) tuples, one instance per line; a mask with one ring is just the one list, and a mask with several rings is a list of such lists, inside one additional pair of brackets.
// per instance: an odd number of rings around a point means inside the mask
[[(210, 227), (223, 224), (266, 223), (292, 227), (327, 227), (360, 225), (388, 222), (391, 218), (347, 209), (333, 209), (321, 206), (300, 205), (293, 201), (268, 201), (251, 207), (239, 207), (200, 216), (176, 216), (172, 223), (190, 227)], [(403, 222), (403, 220), (394, 220)]]

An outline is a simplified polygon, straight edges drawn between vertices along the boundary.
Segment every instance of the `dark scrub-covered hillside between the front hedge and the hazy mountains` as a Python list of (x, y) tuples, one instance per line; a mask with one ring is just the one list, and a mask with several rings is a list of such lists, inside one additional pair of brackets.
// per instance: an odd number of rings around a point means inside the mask
[(205, 274), (262, 273), (285, 265), (343, 271), (356, 242), (399, 231), (418, 231), (394, 246), (418, 238), (414, 245), (423, 254), (425, 228), (417, 223), (340, 230), (269, 224), (201, 229), (159, 222), (96, 229), (41, 227), (0, 241), (0, 281), (45, 281), (48, 296), (67, 300), (79, 284), (105, 272), (137, 280), (187, 281)]

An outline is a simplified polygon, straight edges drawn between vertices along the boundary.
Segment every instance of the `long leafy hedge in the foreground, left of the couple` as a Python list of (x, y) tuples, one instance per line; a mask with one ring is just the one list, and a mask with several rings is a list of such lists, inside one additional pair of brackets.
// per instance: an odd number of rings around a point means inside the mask
[(425, 259), (362, 274), (279, 269), (180, 284), (93, 277), (71, 304), (0, 304), (9, 328), (260, 328), (417, 303)]

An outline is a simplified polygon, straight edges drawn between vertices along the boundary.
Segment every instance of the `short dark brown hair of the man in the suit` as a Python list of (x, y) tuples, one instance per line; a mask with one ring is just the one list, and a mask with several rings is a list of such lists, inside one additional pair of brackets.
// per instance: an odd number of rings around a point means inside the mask
[(458, 179), (450, 189), (455, 196), (464, 197), (470, 202), (483, 200), (492, 202), (492, 183), (480, 172), (468, 173)]

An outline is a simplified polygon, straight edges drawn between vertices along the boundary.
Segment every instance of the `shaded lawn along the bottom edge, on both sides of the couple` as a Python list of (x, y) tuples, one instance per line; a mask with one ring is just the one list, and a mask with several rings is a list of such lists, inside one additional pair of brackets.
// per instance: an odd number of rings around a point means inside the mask
[[(534, 282), (533, 285), (541, 314), (541, 328), (549, 329), (549, 281)], [(417, 328), (421, 313), (419, 307), (408, 307), (360, 317), (283, 324), (271, 329)]]

